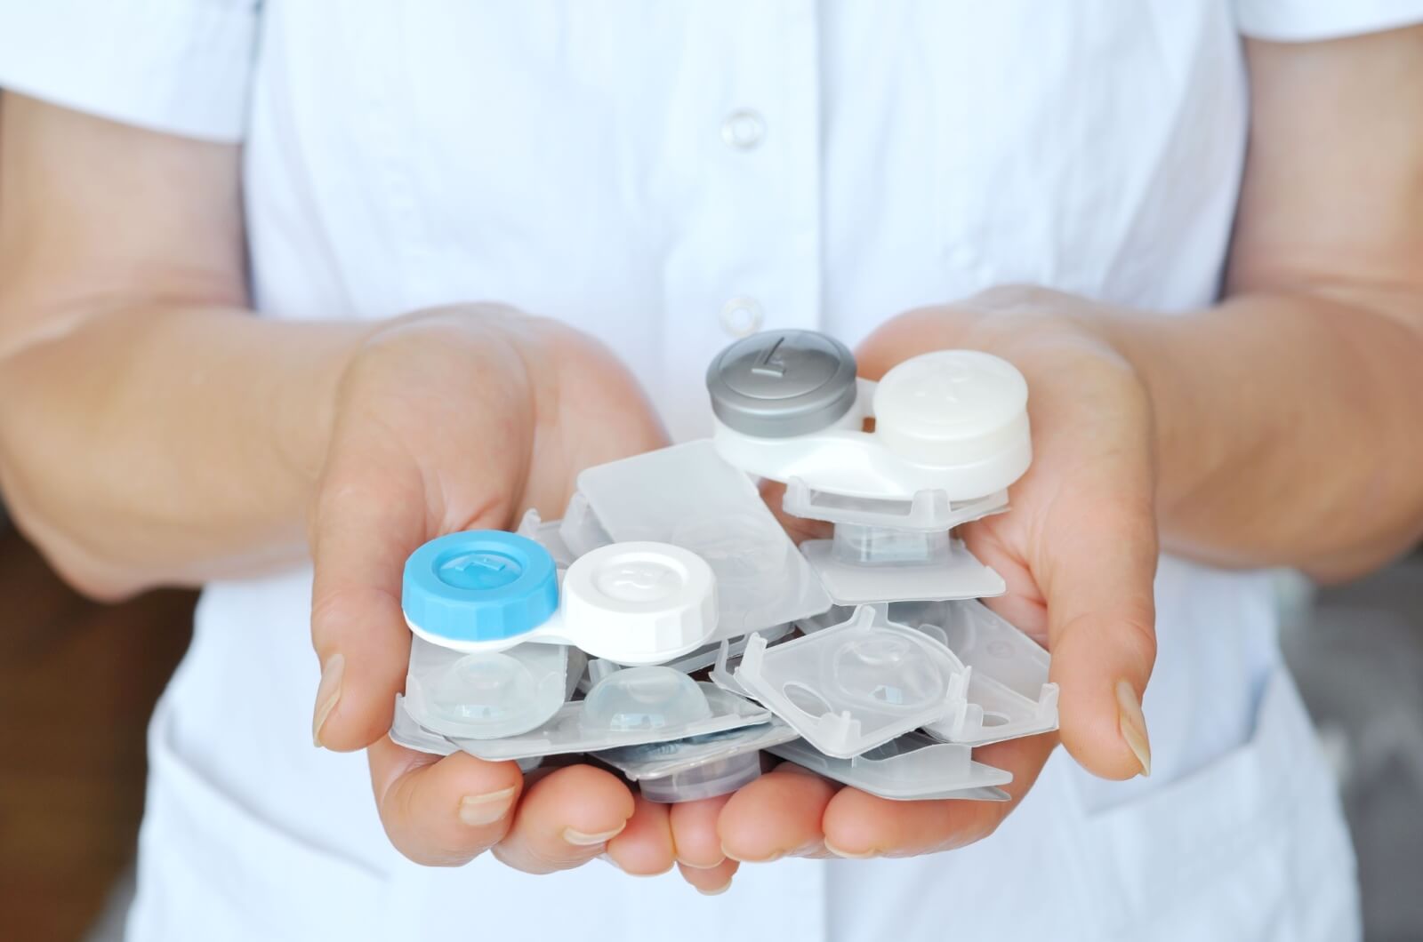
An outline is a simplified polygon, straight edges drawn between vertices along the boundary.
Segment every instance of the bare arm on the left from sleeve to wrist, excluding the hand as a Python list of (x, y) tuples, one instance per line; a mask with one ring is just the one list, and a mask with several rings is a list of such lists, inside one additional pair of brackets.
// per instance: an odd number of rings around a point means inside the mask
[(360, 324), (248, 316), (239, 151), (9, 97), (0, 482), (83, 589), (292, 562)]

